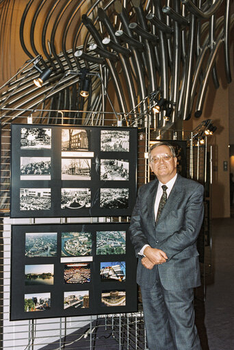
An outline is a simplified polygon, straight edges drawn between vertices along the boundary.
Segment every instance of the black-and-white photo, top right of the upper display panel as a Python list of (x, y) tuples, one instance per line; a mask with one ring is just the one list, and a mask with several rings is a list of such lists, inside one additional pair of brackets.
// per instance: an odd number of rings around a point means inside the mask
[(101, 151), (129, 152), (129, 132), (101, 130)]

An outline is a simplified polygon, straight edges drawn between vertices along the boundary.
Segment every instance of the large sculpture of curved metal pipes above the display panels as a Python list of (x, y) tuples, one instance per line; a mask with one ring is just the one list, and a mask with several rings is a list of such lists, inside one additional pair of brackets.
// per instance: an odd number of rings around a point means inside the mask
[[(0, 42), (16, 18), (14, 0), (1, 6)], [(20, 49), (30, 60), (42, 55), (38, 71), (49, 68), (52, 73), (40, 90), (32, 85), (38, 77), (34, 66), (7, 85), (1, 82), (1, 118), (33, 111), (39, 112), (38, 121), (59, 123), (53, 108), (73, 111), (64, 112), (69, 123), (103, 125), (109, 123), (105, 112), (111, 109), (105, 92), (126, 125), (156, 125), (161, 130), (178, 120), (198, 118), (207, 86), (219, 87), (216, 62), (221, 47), (226, 81), (231, 82), (233, 24), (230, 0), (29, 0), (19, 28)], [(6, 60), (3, 64), (8, 68)], [(67, 71), (81, 68), (101, 78), (92, 77), (87, 98), (79, 96), (79, 77), (60, 81)], [(152, 104), (160, 101), (164, 103), (155, 115)]]

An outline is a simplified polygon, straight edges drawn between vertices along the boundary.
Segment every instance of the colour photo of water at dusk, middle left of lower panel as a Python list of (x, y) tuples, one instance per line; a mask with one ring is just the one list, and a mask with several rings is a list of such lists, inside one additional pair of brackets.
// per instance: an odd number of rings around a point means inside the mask
[(50, 286), (53, 277), (53, 264), (25, 265), (25, 286)]

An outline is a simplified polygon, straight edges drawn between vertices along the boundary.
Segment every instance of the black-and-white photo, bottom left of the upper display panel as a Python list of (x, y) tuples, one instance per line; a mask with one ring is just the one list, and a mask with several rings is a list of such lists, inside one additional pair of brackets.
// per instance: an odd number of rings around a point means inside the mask
[(51, 188), (21, 188), (20, 210), (50, 210)]

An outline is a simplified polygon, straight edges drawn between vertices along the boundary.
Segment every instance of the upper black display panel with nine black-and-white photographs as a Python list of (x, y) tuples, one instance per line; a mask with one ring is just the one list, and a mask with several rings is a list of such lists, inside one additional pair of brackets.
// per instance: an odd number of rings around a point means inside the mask
[(11, 127), (12, 218), (131, 215), (136, 128)]

